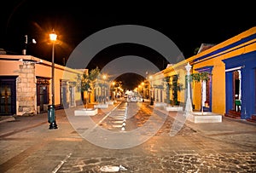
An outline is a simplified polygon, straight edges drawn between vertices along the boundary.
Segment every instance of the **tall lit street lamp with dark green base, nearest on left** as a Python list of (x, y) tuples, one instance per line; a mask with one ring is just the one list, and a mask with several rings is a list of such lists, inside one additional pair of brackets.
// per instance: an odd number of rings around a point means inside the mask
[(52, 55), (51, 55), (51, 102), (52, 104), (48, 107), (48, 122), (49, 122), (49, 130), (58, 129), (58, 126), (55, 122), (55, 42), (57, 39), (57, 35), (53, 30), (49, 34), (49, 40), (52, 44)]

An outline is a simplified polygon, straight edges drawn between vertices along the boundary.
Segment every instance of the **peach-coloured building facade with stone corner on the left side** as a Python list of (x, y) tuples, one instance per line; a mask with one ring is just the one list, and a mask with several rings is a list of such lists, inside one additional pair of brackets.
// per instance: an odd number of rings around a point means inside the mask
[[(51, 104), (51, 67), (30, 55), (0, 55), (1, 115), (30, 115)], [(55, 64), (55, 107), (76, 107), (81, 102), (78, 76), (83, 72)]]

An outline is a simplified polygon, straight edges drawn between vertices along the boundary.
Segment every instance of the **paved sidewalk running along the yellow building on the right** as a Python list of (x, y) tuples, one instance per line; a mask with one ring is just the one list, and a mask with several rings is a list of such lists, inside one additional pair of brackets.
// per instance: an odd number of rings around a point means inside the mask
[[(154, 108), (179, 121), (180, 117), (178, 118), (177, 112), (167, 112), (163, 107)], [(181, 116), (181, 113), (179, 113), (179, 116)], [(194, 123), (186, 119), (184, 124), (198, 135), (244, 147), (256, 148), (256, 124), (253, 122), (222, 116), (222, 122), (219, 123)]]

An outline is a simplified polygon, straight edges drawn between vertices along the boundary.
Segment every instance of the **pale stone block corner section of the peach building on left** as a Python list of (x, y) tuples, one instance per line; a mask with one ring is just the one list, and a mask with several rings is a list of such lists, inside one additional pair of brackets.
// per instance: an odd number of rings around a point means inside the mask
[(20, 65), (17, 79), (17, 115), (33, 115), (37, 113), (37, 88), (35, 64), (24, 61)]

